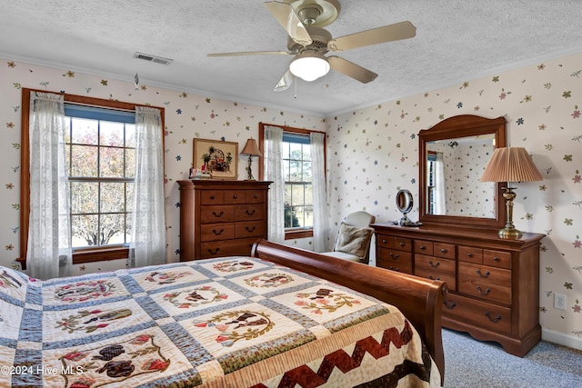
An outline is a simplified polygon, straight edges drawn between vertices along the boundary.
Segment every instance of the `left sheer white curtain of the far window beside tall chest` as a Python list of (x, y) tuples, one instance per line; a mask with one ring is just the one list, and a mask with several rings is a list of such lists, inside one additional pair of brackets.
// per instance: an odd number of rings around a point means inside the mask
[(274, 243), (285, 243), (285, 180), (283, 179), (283, 164), (281, 163), (283, 129), (278, 126), (265, 125), (264, 143), (265, 179), (273, 182), (269, 188), (269, 233), (267, 239)]

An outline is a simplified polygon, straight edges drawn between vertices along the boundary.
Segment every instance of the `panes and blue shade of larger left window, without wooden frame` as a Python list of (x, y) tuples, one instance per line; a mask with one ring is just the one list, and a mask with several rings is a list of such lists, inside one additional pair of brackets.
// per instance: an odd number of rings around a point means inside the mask
[(135, 113), (65, 104), (74, 251), (128, 244), (135, 174)]

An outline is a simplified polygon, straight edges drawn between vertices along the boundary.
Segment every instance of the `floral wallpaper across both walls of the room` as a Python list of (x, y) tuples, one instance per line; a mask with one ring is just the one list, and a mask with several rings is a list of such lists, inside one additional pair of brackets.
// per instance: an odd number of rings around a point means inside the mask
[[(166, 108), (167, 255), (179, 253), (179, 195), (193, 138), (238, 142), (257, 137), (259, 122), (327, 132), (330, 235), (346, 214), (364, 209), (377, 222), (397, 220), (395, 195), (409, 189), (417, 201), (416, 134), (457, 114), (507, 119), (507, 144), (527, 148), (544, 181), (517, 184), (518, 229), (547, 234), (540, 247), (540, 323), (544, 337), (582, 349), (582, 54), (467, 80), (420, 95), (321, 117), (221, 100), (187, 91), (76, 73), (70, 69), (0, 59), (0, 264), (19, 255), (20, 100), (22, 87), (65, 91)], [(129, 79), (129, 77), (128, 77)], [(239, 148), (242, 149), (242, 148)], [(245, 175), (239, 159), (238, 176)], [(417, 219), (417, 205), (408, 214)], [(303, 247), (307, 241), (291, 241)], [(332, 238), (333, 240), (333, 238)], [(116, 263), (115, 263), (116, 262)], [(77, 273), (105, 271), (124, 261), (78, 265)], [(124, 262), (124, 263), (120, 263)], [(567, 296), (554, 308), (554, 293)]]

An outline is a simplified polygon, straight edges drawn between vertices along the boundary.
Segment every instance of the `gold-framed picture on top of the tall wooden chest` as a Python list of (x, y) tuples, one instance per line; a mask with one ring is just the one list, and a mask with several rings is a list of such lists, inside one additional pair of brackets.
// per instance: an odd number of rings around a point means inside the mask
[(194, 139), (194, 168), (211, 174), (213, 179), (238, 177), (238, 143)]

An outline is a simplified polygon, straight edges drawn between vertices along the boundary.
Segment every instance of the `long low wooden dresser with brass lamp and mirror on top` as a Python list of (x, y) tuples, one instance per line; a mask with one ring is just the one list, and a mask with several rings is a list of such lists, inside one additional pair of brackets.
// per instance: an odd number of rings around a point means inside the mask
[(541, 339), (539, 241), (497, 230), (373, 224), (376, 265), (447, 283), (443, 326), (523, 357)]

